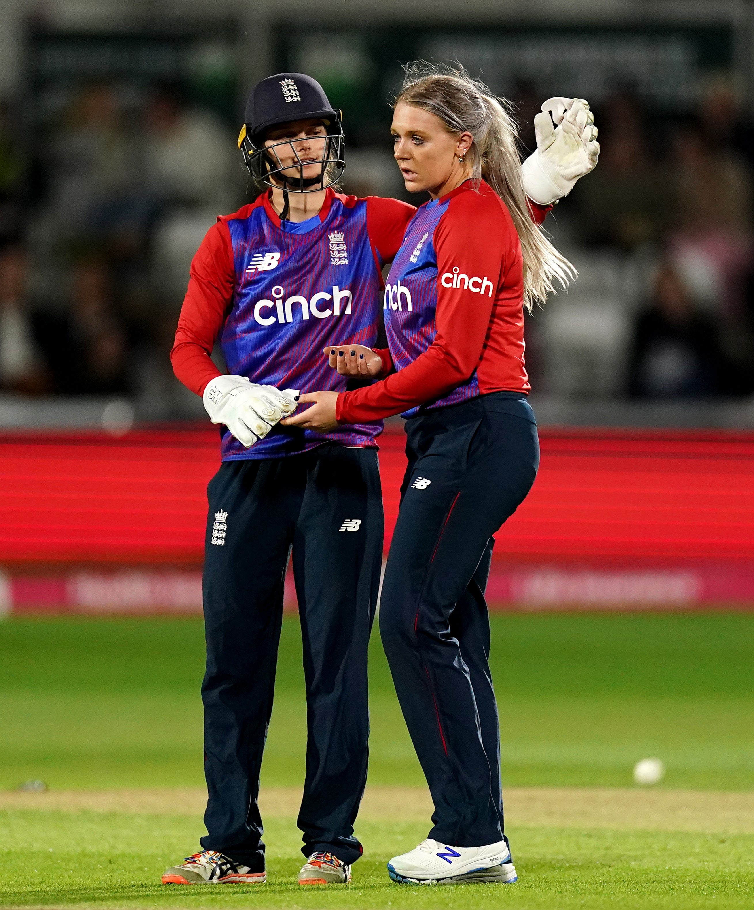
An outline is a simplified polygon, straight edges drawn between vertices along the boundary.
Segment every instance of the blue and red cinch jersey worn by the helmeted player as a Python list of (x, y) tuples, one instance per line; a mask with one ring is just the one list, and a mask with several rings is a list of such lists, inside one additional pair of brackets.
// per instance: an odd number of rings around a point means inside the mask
[[(298, 224), (281, 224), (266, 195), (219, 218), (193, 258), (171, 355), (178, 378), (202, 394), (219, 375), (209, 355), (222, 327), (230, 373), (278, 389), (343, 391), (347, 380), (322, 349), (376, 342), (382, 263), (413, 211), (328, 190), (319, 214)], [(365, 421), (325, 434), (278, 425), (246, 449), (224, 430), (223, 460), (277, 458), (324, 440), (373, 446), (381, 431)]]

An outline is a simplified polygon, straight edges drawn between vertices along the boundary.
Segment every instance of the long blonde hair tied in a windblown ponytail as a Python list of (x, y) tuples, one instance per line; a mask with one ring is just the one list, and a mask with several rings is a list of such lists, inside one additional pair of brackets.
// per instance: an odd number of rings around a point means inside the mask
[(454, 136), (471, 133), (472, 177), (484, 179), (508, 207), (521, 240), (523, 304), (531, 312), (534, 302), (544, 303), (555, 293), (553, 282), (567, 288), (576, 269), (534, 224), (523, 188), (518, 126), (505, 98), (471, 76), (462, 66), (434, 66), (417, 61), (406, 66), (400, 92), (392, 102), (421, 107), (439, 117)]

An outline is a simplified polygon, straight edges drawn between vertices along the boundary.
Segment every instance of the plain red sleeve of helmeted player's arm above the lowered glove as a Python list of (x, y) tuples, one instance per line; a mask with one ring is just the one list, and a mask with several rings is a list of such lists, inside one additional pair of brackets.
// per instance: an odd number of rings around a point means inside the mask
[(189, 286), (170, 352), (173, 371), (187, 389), (203, 395), (220, 370), (210, 354), (233, 300), (233, 247), (224, 221), (207, 231), (189, 272)]

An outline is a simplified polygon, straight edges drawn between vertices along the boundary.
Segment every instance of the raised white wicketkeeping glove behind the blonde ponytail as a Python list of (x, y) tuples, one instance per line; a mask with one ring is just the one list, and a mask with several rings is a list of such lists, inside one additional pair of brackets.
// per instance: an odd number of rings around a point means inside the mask
[(534, 202), (549, 206), (597, 167), (597, 127), (582, 98), (549, 98), (534, 117), (534, 130), (537, 150), (522, 165), (523, 187)]

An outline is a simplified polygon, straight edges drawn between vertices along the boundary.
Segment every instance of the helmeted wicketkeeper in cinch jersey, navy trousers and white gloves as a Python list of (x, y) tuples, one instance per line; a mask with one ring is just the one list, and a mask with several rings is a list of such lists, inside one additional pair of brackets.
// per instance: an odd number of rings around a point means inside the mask
[[(559, 129), (530, 165), (538, 221), (578, 177)], [(163, 882), (266, 881), (257, 795), (293, 552), (308, 709), (299, 883), (343, 884), (362, 854), (353, 823), (367, 773), (382, 423), (342, 422), (320, 433), (280, 421), (300, 391), (350, 388), (322, 349), (343, 339), (373, 349), (382, 266), (415, 209), (336, 191), (345, 167), (341, 116), (310, 76), (281, 73), (255, 86), (239, 146), (263, 192), (207, 232), (171, 355), (175, 375), (220, 427), (222, 464), (208, 487), (203, 583), (208, 833)], [(210, 359), (218, 337), (227, 375)]]

